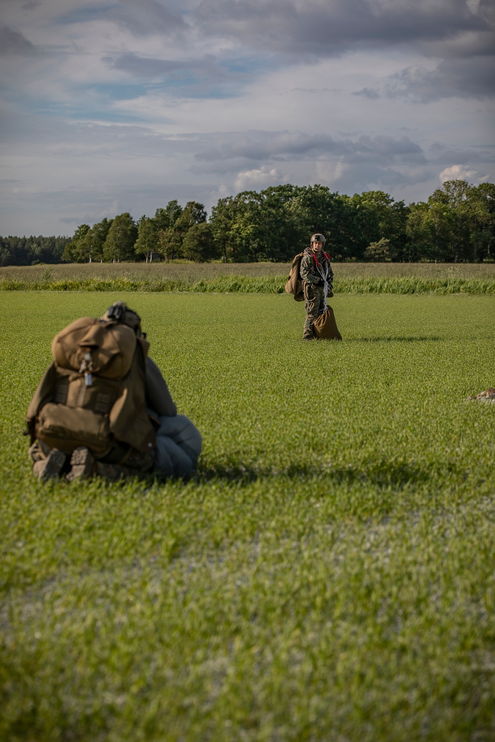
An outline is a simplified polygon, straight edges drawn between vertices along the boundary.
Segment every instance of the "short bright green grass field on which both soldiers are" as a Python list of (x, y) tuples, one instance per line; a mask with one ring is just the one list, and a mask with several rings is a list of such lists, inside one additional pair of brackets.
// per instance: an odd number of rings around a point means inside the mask
[[(140, 313), (197, 481), (53, 487), (53, 335)], [(491, 741), (493, 296), (1, 295), (0, 739)]]

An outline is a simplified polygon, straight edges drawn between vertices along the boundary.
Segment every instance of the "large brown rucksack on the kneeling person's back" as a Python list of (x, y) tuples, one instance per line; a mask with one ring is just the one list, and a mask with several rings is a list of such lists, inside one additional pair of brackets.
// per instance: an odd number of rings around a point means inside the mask
[(88, 447), (105, 456), (116, 442), (154, 448), (146, 413), (148, 342), (117, 321), (76, 320), (53, 338), (47, 368), (27, 411), (32, 436), (71, 453)]

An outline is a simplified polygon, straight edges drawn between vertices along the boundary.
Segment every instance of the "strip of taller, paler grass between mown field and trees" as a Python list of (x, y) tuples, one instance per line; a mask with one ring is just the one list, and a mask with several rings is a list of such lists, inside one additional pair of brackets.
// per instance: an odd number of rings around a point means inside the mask
[[(280, 294), (290, 263), (86, 263), (0, 268), (0, 290)], [(495, 263), (334, 263), (340, 294), (495, 294)]]

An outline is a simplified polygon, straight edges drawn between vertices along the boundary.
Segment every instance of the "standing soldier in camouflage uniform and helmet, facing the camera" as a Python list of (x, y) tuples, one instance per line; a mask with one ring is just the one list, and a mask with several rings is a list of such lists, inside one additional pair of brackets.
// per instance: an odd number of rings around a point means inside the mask
[(303, 340), (312, 340), (313, 324), (318, 315), (325, 311), (327, 295), (332, 295), (333, 272), (330, 267), (330, 255), (324, 252), (325, 238), (323, 234), (313, 234), (309, 247), (304, 250), (301, 258), (301, 280), (304, 291), (304, 321)]

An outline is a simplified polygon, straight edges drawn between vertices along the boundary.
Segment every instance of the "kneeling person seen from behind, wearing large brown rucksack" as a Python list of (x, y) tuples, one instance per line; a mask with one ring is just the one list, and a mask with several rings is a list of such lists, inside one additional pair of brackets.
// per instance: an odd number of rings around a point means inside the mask
[(140, 318), (123, 302), (56, 335), (53, 363), (27, 411), (33, 473), (41, 481), (194, 473), (200, 433), (177, 415), (148, 347)]

